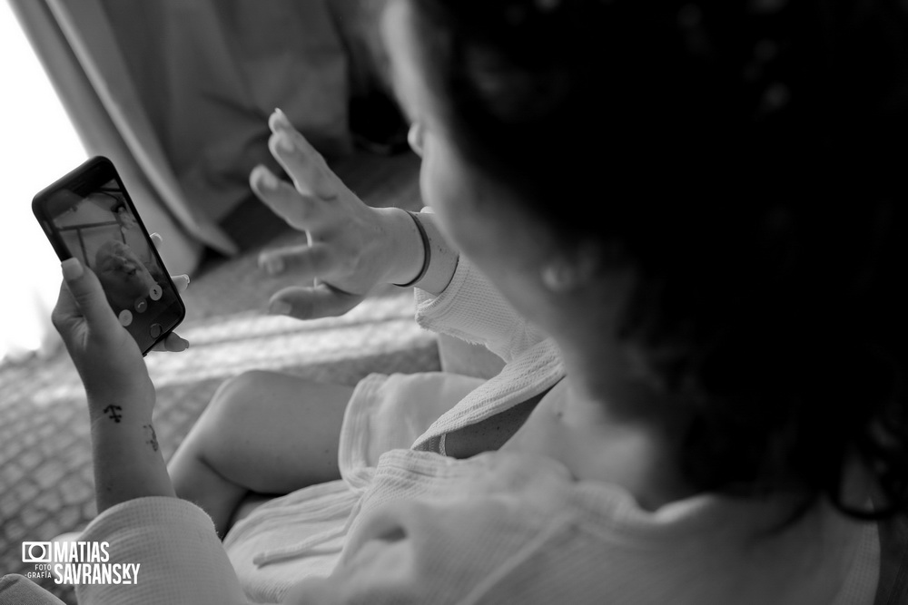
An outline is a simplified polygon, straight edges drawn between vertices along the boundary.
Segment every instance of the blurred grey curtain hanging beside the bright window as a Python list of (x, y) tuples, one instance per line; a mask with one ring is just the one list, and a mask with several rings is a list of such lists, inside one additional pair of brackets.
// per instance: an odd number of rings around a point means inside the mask
[(281, 107), (350, 151), (347, 58), (328, 0), (9, 0), (89, 154), (110, 157), (172, 272), (236, 244), (219, 227), (270, 164)]

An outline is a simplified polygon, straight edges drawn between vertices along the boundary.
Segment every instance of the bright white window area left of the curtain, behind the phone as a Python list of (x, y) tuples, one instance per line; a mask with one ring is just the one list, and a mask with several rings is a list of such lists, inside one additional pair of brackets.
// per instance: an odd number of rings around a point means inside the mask
[(49, 316), (59, 288), (58, 261), (32, 215), (31, 200), (81, 163), (87, 152), (7, 2), (0, 4), (0, 73), (5, 82), (0, 95), (5, 182), (0, 317), (7, 318), (0, 330), (2, 363), (47, 354), (57, 345)]

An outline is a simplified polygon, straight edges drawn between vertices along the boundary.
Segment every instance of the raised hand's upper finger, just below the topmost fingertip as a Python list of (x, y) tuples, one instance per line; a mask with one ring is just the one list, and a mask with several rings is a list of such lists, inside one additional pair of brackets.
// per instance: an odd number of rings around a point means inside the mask
[(303, 195), (311, 195), (320, 200), (337, 198), (337, 187), (331, 180), (321, 153), (299, 132), (279, 128), (271, 134), (268, 148)]

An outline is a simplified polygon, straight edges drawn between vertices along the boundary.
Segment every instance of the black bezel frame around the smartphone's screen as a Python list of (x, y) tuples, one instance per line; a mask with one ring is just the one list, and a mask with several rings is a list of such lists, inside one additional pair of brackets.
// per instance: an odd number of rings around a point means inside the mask
[(171, 279), (170, 274), (164, 266), (161, 255), (154, 247), (148, 229), (145, 228), (142, 217), (139, 215), (138, 210), (136, 210), (132, 197), (126, 190), (123, 180), (120, 178), (120, 174), (116, 171), (114, 162), (101, 155), (94, 156), (93, 158), (84, 161), (81, 166), (39, 191), (32, 200), (32, 211), (35, 214), (35, 219), (38, 220), (41, 228), (44, 230), (47, 239), (50, 240), (51, 245), (54, 247), (57, 257), (61, 261), (71, 259), (74, 255), (70, 252), (70, 249), (64, 242), (59, 230), (54, 226), (53, 217), (48, 209), (48, 204), (57, 191), (69, 190), (77, 195), (84, 196), (84, 194), (88, 192), (99, 190), (110, 181), (117, 182), (117, 186), (123, 193), (124, 203), (129, 207), (130, 212), (133, 213), (133, 217), (142, 233), (143, 239), (148, 243), (150, 253), (153, 254), (158, 266), (163, 269), (163, 278), (167, 280), (168, 287), (171, 288), (175, 295), (175, 299), (170, 305), (163, 307), (157, 315), (150, 317), (153, 323), (159, 324), (162, 327), (161, 335), (159, 337), (154, 338), (150, 334), (137, 335), (137, 330), (130, 330), (129, 327), (124, 328), (136, 341), (139, 350), (142, 351), (142, 355), (144, 356), (152, 350), (153, 346), (163, 341), (168, 334), (173, 332), (173, 328), (179, 326), (183, 322), (183, 319), (186, 317), (186, 306), (183, 303), (183, 298), (180, 296), (179, 290), (173, 284), (173, 279)]

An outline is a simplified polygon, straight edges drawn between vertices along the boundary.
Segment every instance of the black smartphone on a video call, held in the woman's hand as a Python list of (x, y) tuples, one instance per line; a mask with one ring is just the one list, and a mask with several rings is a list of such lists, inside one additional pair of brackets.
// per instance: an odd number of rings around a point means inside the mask
[(183, 321), (183, 300), (112, 161), (85, 161), (35, 195), (32, 210), (60, 260), (75, 257), (98, 276), (143, 355)]

